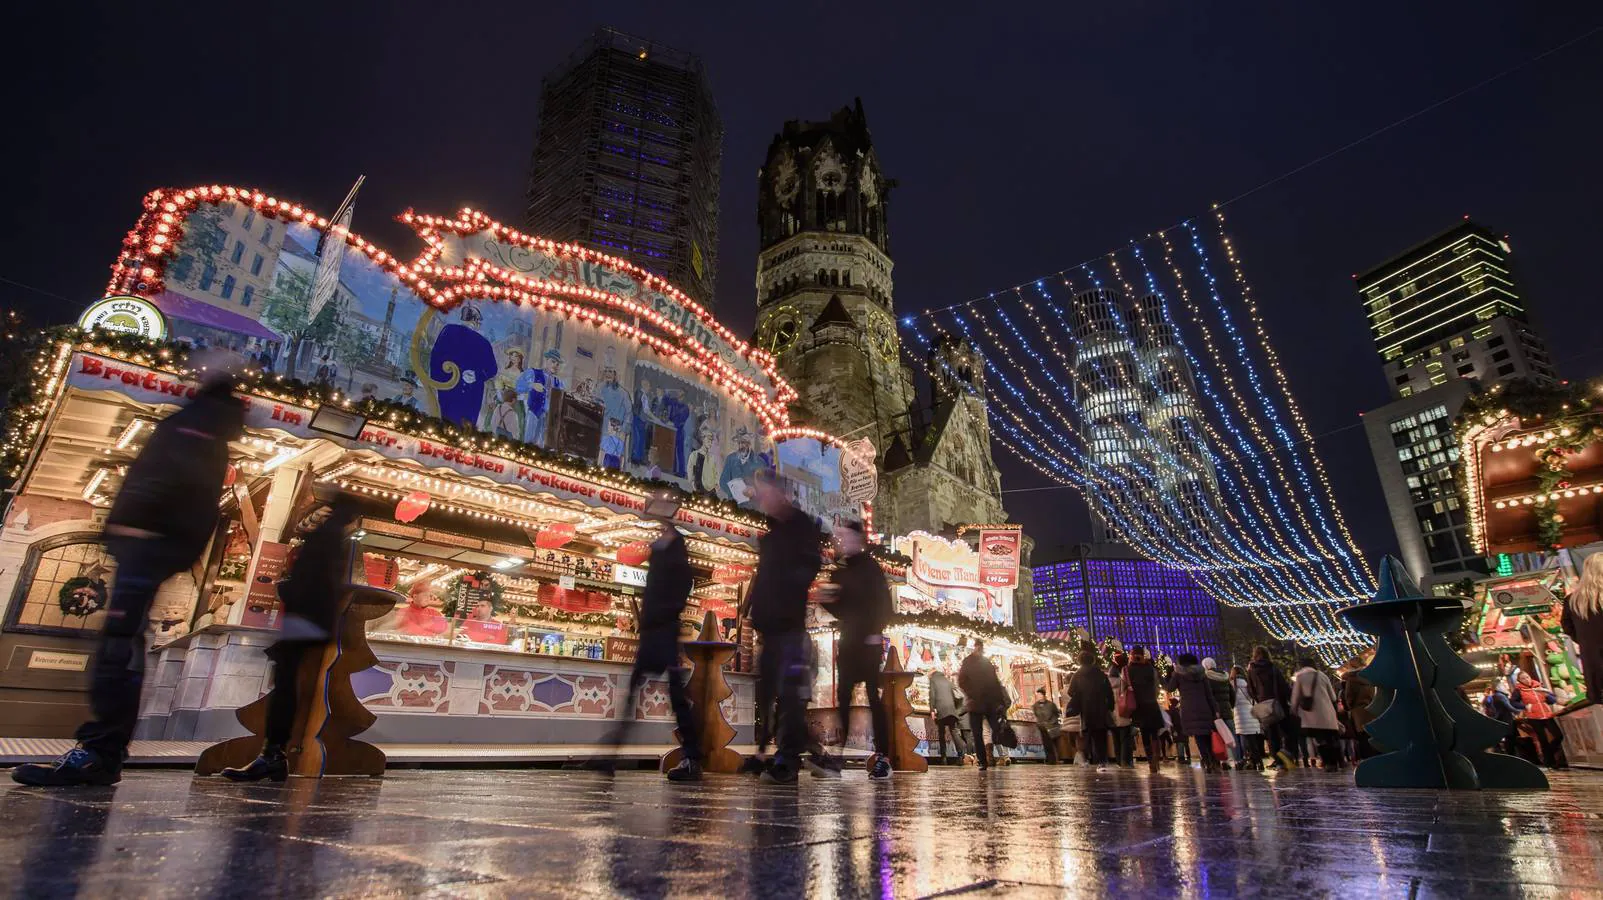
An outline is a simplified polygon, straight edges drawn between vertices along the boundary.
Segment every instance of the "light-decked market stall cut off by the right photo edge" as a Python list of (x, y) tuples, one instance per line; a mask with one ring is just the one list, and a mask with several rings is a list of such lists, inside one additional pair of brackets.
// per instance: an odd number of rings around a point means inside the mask
[[(1561, 704), (1571, 762), (1603, 765), (1603, 707), (1561, 629), (1584, 560), (1603, 550), (1603, 385), (1529, 382), (1472, 396), (1457, 422), (1475, 549), (1499, 576), (1475, 584), (1483, 680), (1528, 672)], [(1523, 570), (1523, 571), (1520, 571)], [(1593, 687), (1590, 693), (1597, 693)]]

